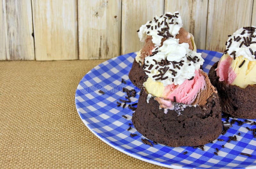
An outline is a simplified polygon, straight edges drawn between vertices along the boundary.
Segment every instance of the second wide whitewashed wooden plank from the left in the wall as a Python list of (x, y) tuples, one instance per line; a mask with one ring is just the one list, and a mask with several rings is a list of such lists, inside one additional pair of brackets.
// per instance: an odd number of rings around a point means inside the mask
[(36, 60), (78, 59), (77, 1), (32, 0)]

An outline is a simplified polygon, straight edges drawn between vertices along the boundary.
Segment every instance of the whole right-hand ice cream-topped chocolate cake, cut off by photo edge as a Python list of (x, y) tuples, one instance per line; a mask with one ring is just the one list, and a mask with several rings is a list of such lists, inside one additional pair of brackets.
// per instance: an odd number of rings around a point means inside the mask
[(228, 35), (226, 50), (209, 71), (224, 113), (256, 118), (256, 27), (238, 29)]

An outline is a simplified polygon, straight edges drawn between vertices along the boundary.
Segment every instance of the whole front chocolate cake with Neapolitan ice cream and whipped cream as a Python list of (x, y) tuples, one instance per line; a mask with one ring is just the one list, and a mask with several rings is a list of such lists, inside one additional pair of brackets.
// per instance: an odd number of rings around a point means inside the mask
[(172, 147), (197, 146), (222, 131), (217, 90), (200, 69), (201, 53), (167, 39), (145, 58), (143, 83), (132, 122), (150, 140)]

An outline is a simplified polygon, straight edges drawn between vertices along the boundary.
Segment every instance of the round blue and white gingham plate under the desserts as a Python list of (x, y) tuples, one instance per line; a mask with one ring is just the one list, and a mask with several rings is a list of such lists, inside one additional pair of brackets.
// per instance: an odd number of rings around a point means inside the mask
[[(218, 61), (221, 53), (206, 50), (197, 50), (204, 58), (204, 71), (209, 72), (212, 64)], [(204, 145), (204, 151), (189, 146), (169, 147), (162, 144), (143, 144), (143, 137), (132, 125), (132, 110), (116, 107), (119, 99), (125, 99), (122, 88), (134, 88), (136, 97), (131, 98), (132, 103), (139, 98), (139, 89), (132, 85), (128, 73), (132, 67), (135, 53), (128, 53), (107, 60), (89, 71), (78, 84), (76, 89), (76, 109), (84, 124), (102, 141), (111, 147), (140, 160), (171, 168), (256, 168), (256, 138), (252, 131), (246, 127), (256, 128), (245, 123), (242, 126), (234, 124), (225, 135), (213, 144)], [(122, 78), (126, 84), (121, 83)], [(98, 91), (105, 92), (104, 95)], [(119, 101), (120, 102), (120, 101)], [(127, 119), (122, 117), (127, 116)], [(225, 119), (222, 119), (223, 121)], [(243, 119), (238, 119), (242, 120)], [(252, 120), (253, 121), (253, 120)], [(238, 132), (241, 136), (238, 136)], [(137, 136), (131, 137), (130, 133)], [(237, 141), (228, 143), (228, 136), (236, 135)], [(222, 144), (225, 148), (222, 148)], [(218, 156), (214, 154), (215, 148), (219, 149)], [(187, 154), (183, 152), (188, 151)], [(240, 155), (240, 152), (252, 154), (252, 157)]]

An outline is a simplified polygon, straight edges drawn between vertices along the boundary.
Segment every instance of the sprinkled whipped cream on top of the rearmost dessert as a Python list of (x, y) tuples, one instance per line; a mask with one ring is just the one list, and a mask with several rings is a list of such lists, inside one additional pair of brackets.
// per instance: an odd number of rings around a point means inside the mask
[(156, 16), (154, 20), (141, 25), (138, 35), (141, 42), (144, 42), (147, 35), (152, 36), (152, 42), (161, 46), (162, 38), (174, 39), (182, 27), (182, 20), (179, 12), (167, 12), (164, 15)]

